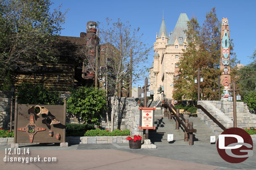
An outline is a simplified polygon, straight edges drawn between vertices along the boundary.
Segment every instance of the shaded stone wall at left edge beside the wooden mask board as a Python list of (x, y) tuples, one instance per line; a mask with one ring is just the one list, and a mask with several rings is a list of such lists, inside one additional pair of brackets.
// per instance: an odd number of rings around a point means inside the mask
[[(11, 91), (0, 91), (0, 128), (10, 129), (10, 103)], [(14, 120), (14, 102), (13, 102), (13, 120)], [(14, 124), (13, 124), (14, 126)]]

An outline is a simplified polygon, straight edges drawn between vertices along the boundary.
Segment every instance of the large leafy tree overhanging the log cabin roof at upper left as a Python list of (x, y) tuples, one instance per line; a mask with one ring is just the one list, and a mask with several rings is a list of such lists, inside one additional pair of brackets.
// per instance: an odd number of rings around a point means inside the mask
[(8, 71), (56, 62), (52, 48), (65, 13), (50, 12), (50, 0), (0, 0), (0, 78)]

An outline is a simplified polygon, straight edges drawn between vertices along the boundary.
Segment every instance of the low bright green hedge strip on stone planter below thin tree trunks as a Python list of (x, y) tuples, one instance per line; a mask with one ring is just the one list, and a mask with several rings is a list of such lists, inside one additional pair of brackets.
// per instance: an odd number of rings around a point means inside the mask
[(87, 130), (84, 134), (84, 136), (128, 136), (130, 135), (130, 130), (120, 130), (115, 129), (112, 132), (110, 132), (108, 129), (101, 130), (99, 128), (94, 130)]

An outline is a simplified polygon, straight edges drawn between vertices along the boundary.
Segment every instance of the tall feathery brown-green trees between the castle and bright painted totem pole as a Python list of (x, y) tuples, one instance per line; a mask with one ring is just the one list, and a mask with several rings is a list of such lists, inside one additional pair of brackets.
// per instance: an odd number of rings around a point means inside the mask
[(201, 99), (218, 99), (218, 92), (213, 91), (216, 86), (213, 81), (220, 74), (219, 28), (220, 22), (217, 19), (215, 8), (206, 13), (206, 20), (201, 29), (196, 18), (188, 22), (189, 43), (180, 58), (181, 79), (175, 82), (175, 89), (177, 89), (174, 91), (175, 99), (197, 99), (197, 84), (194, 83), (194, 79), (198, 69), (204, 78), (204, 82), (200, 83)]

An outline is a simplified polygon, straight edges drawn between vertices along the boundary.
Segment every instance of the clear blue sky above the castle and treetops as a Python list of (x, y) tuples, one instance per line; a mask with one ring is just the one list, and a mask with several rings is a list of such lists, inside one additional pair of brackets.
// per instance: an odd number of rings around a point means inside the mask
[[(140, 28), (144, 33), (144, 42), (153, 46), (156, 32), (159, 31), (164, 10), (167, 32), (171, 32), (180, 13), (186, 13), (188, 18), (196, 16), (202, 26), (205, 15), (213, 7), (216, 9), (219, 21), (227, 18), (230, 25), (230, 38), (233, 39), (234, 52), (241, 64), (248, 64), (253, 51), (256, 50), (256, 0), (52, 0), (56, 8), (62, 3), (61, 10), (68, 10), (64, 30), (61, 36), (79, 37), (80, 32), (86, 32), (86, 23), (105, 21), (106, 17), (116, 21), (129, 21), (133, 28)], [(149, 57), (152, 64), (154, 51)], [(146, 75), (148, 76), (148, 75)], [(143, 81), (142, 81), (143, 82)], [(141, 83), (139, 83), (141, 84)]]

